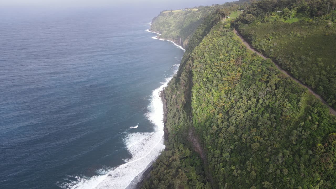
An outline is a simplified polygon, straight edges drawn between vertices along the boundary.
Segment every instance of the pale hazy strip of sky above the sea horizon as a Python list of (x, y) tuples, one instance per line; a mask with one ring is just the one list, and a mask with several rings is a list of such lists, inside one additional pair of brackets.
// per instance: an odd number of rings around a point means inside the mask
[(177, 9), (199, 5), (222, 4), (231, 0), (2, 0), (0, 7), (115, 7), (152, 6), (155, 8)]

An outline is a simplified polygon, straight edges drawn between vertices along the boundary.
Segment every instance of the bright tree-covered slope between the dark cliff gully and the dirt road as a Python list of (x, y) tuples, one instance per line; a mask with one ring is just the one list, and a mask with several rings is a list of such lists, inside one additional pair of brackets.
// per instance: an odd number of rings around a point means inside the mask
[(312, 188), (323, 180), (331, 188), (335, 170), (323, 171), (315, 148), (336, 131), (334, 117), (270, 60), (216, 27), (192, 56), (193, 125), (213, 187)]

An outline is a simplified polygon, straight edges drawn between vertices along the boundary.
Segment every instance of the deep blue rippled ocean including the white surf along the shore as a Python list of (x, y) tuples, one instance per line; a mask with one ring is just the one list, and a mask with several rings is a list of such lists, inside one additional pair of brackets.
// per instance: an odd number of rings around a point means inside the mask
[(183, 55), (145, 31), (158, 13), (1, 11), (0, 188), (139, 180), (164, 149), (159, 91)]

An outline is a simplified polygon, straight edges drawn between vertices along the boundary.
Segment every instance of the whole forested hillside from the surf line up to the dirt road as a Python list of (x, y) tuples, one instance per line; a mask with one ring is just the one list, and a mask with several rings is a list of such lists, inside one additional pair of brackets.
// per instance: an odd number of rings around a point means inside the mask
[(263, 26), (249, 10), (261, 14), (253, 3), (224, 4), (190, 38), (164, 92), (166, 150), (143, 188), (335, 188), (336, 118), (233, 32)]

